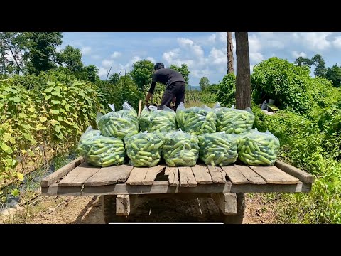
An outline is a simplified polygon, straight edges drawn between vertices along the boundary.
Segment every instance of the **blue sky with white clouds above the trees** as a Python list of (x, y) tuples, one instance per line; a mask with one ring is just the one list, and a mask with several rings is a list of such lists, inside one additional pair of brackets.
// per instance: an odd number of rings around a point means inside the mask
[[(235, 40), (234, 66), (236, 65)], [(166, 68), (185, 63), (190, 70), (190, 85), (197, 86), (206, 76), (217, 83), (227, 73), (226, 32), (67, 32), (63, 45), (82, 50), (85, 65), (97, 65), (99, 76), (124, 74), (137, 60), (162, 62)], [(60, 49), (59, 48), (59, 49)], [(298, 56), (312, 58), (319, 53), (326, 66), (341, 63), (340, 32), (249, 32), (251, 72), (254, 65), (272, 56), (291, 62)], [(313, 71), (313, 70), (312, 70)]]

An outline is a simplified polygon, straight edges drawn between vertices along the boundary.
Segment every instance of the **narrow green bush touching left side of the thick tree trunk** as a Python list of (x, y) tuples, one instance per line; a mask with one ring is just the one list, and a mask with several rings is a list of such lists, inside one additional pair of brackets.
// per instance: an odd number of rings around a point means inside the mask
[(224, 107), (236, 104), (236, 76), (233, 73), (224, 75), (218, 85), (217, 102)]

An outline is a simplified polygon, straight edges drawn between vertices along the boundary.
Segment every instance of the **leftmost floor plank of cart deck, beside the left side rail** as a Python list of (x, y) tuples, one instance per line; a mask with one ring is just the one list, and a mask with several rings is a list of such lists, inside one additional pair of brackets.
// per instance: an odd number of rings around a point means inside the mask
[(58, 186), (82, 186), (85, 181), (92, 175), (96, 174), (99, 167), (91, 166), (90, 164), (83, 163), (70, 171), (65, 178), (58, 184)]

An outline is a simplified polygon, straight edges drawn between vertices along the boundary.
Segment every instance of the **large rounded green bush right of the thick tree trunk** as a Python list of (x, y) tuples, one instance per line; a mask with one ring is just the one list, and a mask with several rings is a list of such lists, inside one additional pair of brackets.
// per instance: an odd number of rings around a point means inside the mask
[(308, 67), (269, 58), (254, 66), (251, 75), (254, 102), (260, 104), (265, 99), (274, 99), (280, 109), (308, 112), (311, 109), (307, 89), (310, 80)]

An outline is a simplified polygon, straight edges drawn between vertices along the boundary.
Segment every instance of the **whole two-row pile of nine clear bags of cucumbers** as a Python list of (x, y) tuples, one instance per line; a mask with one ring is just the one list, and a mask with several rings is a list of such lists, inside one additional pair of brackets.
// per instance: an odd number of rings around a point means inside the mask
[(252, 166), (272, 166), (279, 140), (271, 132), (252, 129), (254, 114), (248, 107), (189, 107), (174, 112), (144, 107), (140, 117), (124, 102), (123, 110), (97, 114), (97, 127), (80, 137), (78, 150), (88, 164), (99, 167), (129, 162), (151, 167), (163, 159), (167, 166), (227, 166), (240, 159)]

